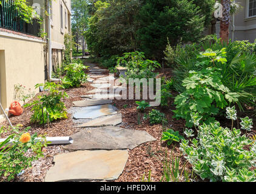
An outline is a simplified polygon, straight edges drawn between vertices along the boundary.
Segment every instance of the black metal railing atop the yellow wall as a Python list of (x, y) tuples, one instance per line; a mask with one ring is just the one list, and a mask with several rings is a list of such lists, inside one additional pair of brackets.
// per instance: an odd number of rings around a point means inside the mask
[(24, 21), (24, 16), (19, 15), (18, 10), (13, 4), (13, 0), (0, 0), (0, 27), (27, 35), (39, 36), (40, 24), (38, 19), (33, 19), (32, 23)]

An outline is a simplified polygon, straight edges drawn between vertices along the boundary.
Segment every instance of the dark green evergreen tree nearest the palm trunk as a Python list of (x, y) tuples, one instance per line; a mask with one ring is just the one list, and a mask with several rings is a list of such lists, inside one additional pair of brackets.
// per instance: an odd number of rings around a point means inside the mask
[[(189, 0), (145, 0), (138, 15), (140, 29), (137, 38), (140, 48), (147, 56), (161, 59), (167, 45), (177, 45), (180, 41), (197, 41), (201, 38), (204, 27), (209, 24), (209, 13), (203, 12), (207, 7), (212, 10), (214, 4), (204, 1)], [(202, 9), (197, 6), (203, 5)]]

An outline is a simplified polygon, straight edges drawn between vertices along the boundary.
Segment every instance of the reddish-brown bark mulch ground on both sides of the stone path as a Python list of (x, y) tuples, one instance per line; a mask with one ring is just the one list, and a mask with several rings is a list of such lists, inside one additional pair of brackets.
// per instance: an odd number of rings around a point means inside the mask
[[(160, 72), (160, 76), (163, 76), (161, 73), (162, 70), (158, 70)], [(164, 76), (170, 77), (172, 75), (169, 69), (164, 70)], [(69, 95), (69, 98), (64, 99), (64, 103), (67, 107), (67, 110), (72, 107), (73, 101), (83, 100), (81, 98), (82, 95), (85, 95), (87, 91), (92, 90), (93, 87), (90, 86), (90, 83), (83, 84), (79, 88), (75, 89), (67, 89), (65, 90)], [(177, 93), (173, 93), (173, 96), (176, 96)], [(36, 97), (35, 97), (36, 98)], [(145, 173), (146, 177), (151, 171), (151, 181), (160, 181), (163, 176), (163, 162), (167, 159), (169, 160), (170, 155), (180, 156), (180, 144), (173, 143), (170, 146), (167, 146), (166, 142), (161, 141), (161, 136), (163, 132), (163, 126), (161, 124), (150, 125), (149, 119), (143, 119), (141, 116), (141, 122), (138, 124), (138, 110), (136, 110), (136, 100), (113, 100), (113, 105), (115, 105), (120, 113), (123, 115), (123, 127), (127, 129), (135, 129), (135, 130), (144, 130), (150, 135), (152, 135), (157, 141), (147, 142), (146, 144), (142, 144), (141, 146), (136, 147), (133, 150), (129, 150), (129, 159), (126, 163), (126, 167), (123, 171), (123, 174), (116, 179), (116, 182), (125, 182), (125, 181), (141, 181), (143, 178), (143, 174)], [(145, 113), (148, 113), (152, 109), (161, 110), (161, 112), (166, 114), (168, 123), (167, 127), (172, 128), (175, 131), (179, 131), (180, 135), (183, 135), (183, 131), (185, 128), (185, 121), (183, 119), (177, 120), (173, 119), (173, 112), (175, 110), (175, 106), (173, 105), (173, 98), (169, 102), (169, 107), (166, 109), (161, 109), (160, 107), (149, 107), (146, 109)], [(30, 112), (31, 108), (24, 109), (24, 113), (21, 116), (11, 117), (10, 121), (13, 125), (22, 124), (23, 127), (31, 126), (30, 132), (38, 134), (47, 134), (47, 136), (71, 136), (76, 132), (79, 132), (79, 129), (75, 123), (72, 121), (72, 115), (69, 113), (68, 119), (62, 119), (55, 122), (52, 122), (48, 127), (47, 124), (35, 125), (30, 124), (29, 118), (32, 115)], [(26, 119), (25, 119), (26, 115)], [(244, 117), (249, 116), (252, 118), (250, 113), (238, 113), (238, 116)], [(223, 127), (231, 127), (230, 121), (226, 118), (217, 118)], [(251, 133), (256, 134), (256, 119), (253, 117), (254, 128)], [(8, 122), (5, 121), (2, 125), (8, 125)], [(3, 133), (1, 138), (9, 135), (8, 133)], [(173, 150), (173, 152), (172, 152)], [(26, 169), (25, 172), (18, 176), (13, 181), (44, 181), (45, 174), (50, 167), (53, 166), (53, 156), (58, 155), (60, 153), (67, 153), (68, 151), (64, 150), (62, 146), (48, 146), (43, 149), (44, 158), (40, 158), (38, 161), (32, 163), (32, 168)], [(186, 159), (181, 156), (180, 167), (186, 163)], [(186, 169), (191, 172), (192, 167), (190, 164), (186, 165)], [(200, 178), (194, 176), (195, 181), (202, 181)], [(4, 180), (1, 180), (4, 181)], [(206, 180), (207, 181), (207, 180)]]

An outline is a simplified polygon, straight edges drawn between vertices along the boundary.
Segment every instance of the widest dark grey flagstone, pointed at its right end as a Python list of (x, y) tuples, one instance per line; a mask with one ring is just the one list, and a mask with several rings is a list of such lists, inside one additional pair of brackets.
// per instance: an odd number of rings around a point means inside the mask
[(130, 130), (107, 126), (81, 130), (71, 136), (73, 144), (64, 146), (66, 150), (116, 150), (134, 149), (149, 141), (156, 141), (143, 130)]

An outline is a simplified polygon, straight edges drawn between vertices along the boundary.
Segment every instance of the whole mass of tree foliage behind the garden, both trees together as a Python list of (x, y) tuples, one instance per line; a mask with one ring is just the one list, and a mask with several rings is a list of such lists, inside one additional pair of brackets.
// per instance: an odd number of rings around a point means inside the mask
[(171, 45), (197, 41), (212, 19), (215, 0), (90, 0), (89, 50), (110, 57), (140, 50), (163, 58)]

